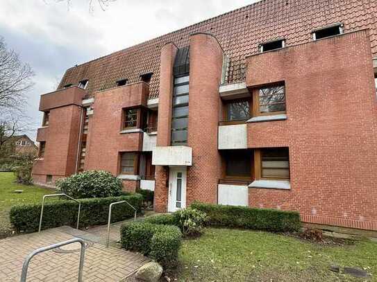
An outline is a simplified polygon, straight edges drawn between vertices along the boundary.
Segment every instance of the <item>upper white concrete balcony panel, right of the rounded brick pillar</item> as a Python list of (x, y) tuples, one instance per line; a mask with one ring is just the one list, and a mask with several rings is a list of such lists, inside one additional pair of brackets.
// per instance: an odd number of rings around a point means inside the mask
[(219, 150), (246, 149), (246, 123), (237, 125), (219, 125)]

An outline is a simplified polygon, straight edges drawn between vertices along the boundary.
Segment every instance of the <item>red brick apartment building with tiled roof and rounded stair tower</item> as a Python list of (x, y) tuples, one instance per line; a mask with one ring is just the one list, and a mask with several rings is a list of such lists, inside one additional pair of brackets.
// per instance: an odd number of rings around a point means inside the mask
[(260, 1), (68, 69), (33, 177), (377, 231), (376, 73), (377, 1)]

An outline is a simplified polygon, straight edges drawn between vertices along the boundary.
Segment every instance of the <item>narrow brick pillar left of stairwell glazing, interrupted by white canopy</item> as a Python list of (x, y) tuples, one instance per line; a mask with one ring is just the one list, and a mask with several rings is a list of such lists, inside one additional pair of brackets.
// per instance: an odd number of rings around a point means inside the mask
[[(171, 97), (173, 91), (173, 65), (178, 48), (169, 43), (162, 47), (160, 58), (160, 94), (158, 96), (158, 135), (157, 146), (170, 146)], [(167, 211), (167, 179), (169, 168), (156, 166), (154, 210)]]

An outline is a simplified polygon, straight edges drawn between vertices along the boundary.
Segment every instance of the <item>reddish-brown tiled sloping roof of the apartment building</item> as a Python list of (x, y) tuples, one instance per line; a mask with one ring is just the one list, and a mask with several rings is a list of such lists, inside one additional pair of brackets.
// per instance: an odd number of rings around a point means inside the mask
[(85, 98), (90, 98), (95, 91), (115, 87), (117, 80), (137, 82), (141, 74), (153, 72), (150, 97), (157, 97), (161, 47), (167, 42), (187, 46), (196, 32), (217, 37), (229, 58), (226, 82), (240, 82), (245, 77), (245, 57), (257, 53), (261, 42), (281, 37), (286, 46), (310, 42), (312, 30), (336, 22), (344, 24), (345, 32), (370, 28), (372, 53), (377, 55), (376, 0), (262, 0), (72, 67), (58, 88), (89, 79)]

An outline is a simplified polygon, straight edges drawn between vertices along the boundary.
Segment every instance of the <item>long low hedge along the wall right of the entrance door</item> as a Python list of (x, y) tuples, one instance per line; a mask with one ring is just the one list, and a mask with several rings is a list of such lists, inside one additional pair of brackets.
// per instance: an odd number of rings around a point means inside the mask
[(274, 232), (299, 231), (300, 214), (296, 211), (253, 209), (246, 206), (223, 206), (194, 202), (192, 208), (205, 212), (209, 224), (224, 227), (258, 229)]

